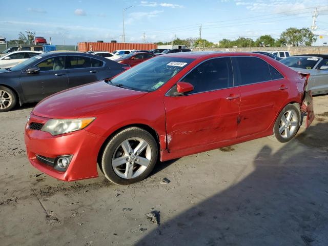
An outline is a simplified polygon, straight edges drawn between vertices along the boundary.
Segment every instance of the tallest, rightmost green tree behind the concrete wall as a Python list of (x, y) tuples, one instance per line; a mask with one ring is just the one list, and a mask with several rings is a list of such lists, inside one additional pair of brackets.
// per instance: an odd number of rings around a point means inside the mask
[(280, 39), (285, 39), (286, 44), (292, 46), (311, 46), (317, 38), (311, 32), (310, 28), (288, 28), (280, 35)]

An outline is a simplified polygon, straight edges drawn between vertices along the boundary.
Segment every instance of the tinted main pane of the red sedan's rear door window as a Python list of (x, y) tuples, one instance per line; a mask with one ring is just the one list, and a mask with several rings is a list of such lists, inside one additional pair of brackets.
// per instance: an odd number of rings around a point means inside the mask
[(256, 57), (234, 57), (238, 65), (239, 85), (248, 85), (271, 80), (268, 63)]

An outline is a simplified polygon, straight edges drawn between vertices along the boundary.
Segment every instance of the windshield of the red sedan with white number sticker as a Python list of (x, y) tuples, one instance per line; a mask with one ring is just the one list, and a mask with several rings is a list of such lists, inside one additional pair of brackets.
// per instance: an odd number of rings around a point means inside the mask
[(155, 57), (118, 75), (110, 83), (136, 91), (151, 92), (167, 83), (193, 60), (183, 57)]

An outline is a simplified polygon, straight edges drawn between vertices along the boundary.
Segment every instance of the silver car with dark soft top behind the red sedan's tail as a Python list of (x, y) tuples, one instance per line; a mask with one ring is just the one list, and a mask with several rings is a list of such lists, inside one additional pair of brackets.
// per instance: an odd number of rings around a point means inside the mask
[(301, 73), (310, 73), (308, 90), (313, 95), (328, 93), (328, 55), (296, 55), (281, 63)]

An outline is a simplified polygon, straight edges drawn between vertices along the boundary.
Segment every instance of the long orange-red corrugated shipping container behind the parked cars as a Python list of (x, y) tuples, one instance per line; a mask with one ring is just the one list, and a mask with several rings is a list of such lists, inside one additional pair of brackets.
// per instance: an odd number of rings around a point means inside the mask
[(130, 44), (130, 43), (93, 43), (85, 42), (78, 43), (79, 52), (87, 51), (108, 51), (113, 52), (114, 50), (152, 50), (156, 49), (155, 44)]

